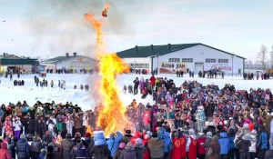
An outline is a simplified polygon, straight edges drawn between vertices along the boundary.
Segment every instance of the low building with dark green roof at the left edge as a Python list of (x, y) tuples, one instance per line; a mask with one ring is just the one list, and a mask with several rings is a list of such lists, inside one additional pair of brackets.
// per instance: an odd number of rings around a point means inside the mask
[(0, 74), (4, 75), (6, 71), (16, 74), (18, 72), (23, 73), (35, 73), (39, 62), (37, 59), (22, 58), (16, 55), (8, 55), (3, 53), (0, 55)]

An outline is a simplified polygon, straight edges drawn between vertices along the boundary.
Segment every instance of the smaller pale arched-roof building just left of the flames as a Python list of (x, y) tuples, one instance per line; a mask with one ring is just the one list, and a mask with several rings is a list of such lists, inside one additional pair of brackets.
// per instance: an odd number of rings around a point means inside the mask
[(45, 70), (53, 70), (56, 73), (56, 69), (61, 70), (73, 70), (73, 72), (80, 72), (80, 70), (96, 70), (98, 62), (90, 57), (83, 55), (69, 55), (66, 53), (64, 56), (57, 56), (55, 58), (47, 59), (41, 62), (41, 65), (45, 66)]

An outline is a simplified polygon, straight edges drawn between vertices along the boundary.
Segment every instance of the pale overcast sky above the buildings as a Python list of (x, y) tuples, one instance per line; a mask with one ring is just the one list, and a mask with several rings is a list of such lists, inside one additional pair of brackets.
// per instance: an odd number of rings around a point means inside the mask
[[(1, 0), (0, 54), (43, 58), (94, 56), (94, 30), (84, 15), (101, 18), (104, 0)], [(203, 43), (256, 60), (273, 45), (271, 0), (109, 0), (106, 49)], [(5, 21), (5, 22), (3, 22)]]

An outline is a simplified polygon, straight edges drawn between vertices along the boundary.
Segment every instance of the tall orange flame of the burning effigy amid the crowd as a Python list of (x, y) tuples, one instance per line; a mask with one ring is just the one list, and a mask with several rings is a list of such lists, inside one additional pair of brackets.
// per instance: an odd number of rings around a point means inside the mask
[(92, 22), (96, 30), (96, 58), (99, 61), (99, 75), (102, 76), (99, 93), (103, 96), (103, 109), (99, 112), (97, 126), (100, 126), (105, 134), (122, 131), (131, 124), (126, 119), (126, 106), (118, 96), (120, 90), (116, 75), (129, 72), (129, 66), (116, 54), (106, 54), (104, 51), (103, 22), (96, 20), (92, 14), (86, 14), (86, 21)]

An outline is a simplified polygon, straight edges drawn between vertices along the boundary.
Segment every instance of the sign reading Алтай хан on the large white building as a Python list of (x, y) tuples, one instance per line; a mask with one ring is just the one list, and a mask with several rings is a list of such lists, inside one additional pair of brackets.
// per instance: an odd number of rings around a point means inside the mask
[(160, 62), (159, 73), (160, 74), (176, 74), (177, 71), (187, 72), (186, 63), (163, 63)]

